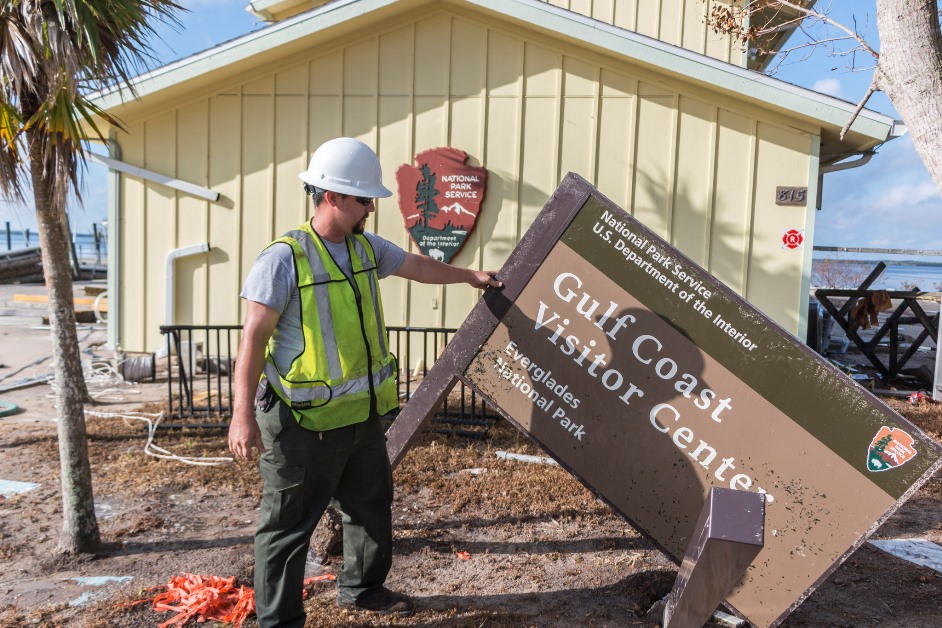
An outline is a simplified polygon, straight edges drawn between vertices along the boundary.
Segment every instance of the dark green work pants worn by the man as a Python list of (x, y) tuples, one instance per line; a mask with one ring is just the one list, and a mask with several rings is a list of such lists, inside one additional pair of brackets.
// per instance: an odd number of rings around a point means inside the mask
[(307, 430), (281, 401), (256, 412), (265, 452), (255, 533), (258, 625), (303, 626), (301, 588), (314, 527), (331, 504), (343, 515), (338, 595), (382, 586), (392, 565), (392, 471), (382, 421)]

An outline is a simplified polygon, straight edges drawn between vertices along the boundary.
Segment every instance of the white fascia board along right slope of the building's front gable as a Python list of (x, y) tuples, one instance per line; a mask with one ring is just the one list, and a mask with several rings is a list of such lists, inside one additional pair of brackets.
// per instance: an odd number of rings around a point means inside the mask
[[(774, 107), (788, 109), (837, 128), (842, 128), (857, 108), (854, 103), (605, 24), (541, 0), (463, 0), (463, 3), (503, 13), (539, 28), (556, 31), (611, 50), (646, 65)], [(864, 109), (857, 116), (851, 130), (885, 141), (895, 137), (895, 125), (898, 127), (899, 121), (890, 116)]]

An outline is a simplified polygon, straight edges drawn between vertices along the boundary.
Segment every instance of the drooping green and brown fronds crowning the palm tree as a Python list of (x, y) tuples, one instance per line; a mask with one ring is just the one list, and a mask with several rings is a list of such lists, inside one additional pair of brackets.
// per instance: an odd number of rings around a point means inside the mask
[(85, 95), (130, 85), (155, 61), (156, 24), (179, 26), (180, 11), (171, 0), (0, 0), (0, 192), (22, 197), (25, 132), (55, 202), (79, 194), (84, 140), (104, 139), (100, 121), (121, 128)]

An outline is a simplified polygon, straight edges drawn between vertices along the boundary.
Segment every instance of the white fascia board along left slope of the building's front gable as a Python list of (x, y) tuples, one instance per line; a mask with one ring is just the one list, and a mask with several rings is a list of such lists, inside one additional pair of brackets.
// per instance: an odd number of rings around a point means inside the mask
[[(215, 48), (174, 61), (132, 79), (137, 98), (166, 89), (177, 83), (203, 76), (220, 67), (238, 63), (261, 52), (310, 37), (350, 19), (395, 4), (397, 0), (335, 0), (317, 9), (233, 39)], [(124, 104), (126, 86), (91, 94), (90, 99), (105, 109)]]

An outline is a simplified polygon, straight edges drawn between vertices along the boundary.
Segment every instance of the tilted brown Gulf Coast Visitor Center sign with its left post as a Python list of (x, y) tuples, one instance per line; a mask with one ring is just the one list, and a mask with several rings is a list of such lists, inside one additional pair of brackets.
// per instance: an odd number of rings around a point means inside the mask
[(780, 623), (942, 466), (942, 448), (570, 174), (389, 431), (464, 381), (680, 561), (711, 487), (766, 495), (727, 596)]

